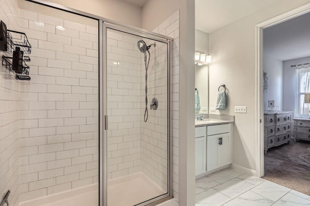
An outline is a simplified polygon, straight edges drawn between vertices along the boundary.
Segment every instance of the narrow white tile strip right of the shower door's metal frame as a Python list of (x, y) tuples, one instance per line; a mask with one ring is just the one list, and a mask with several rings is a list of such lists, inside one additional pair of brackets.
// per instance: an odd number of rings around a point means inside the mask
[(179, 10), (167, 18), (153, 31), (173, 40), (173, 86), (172, 86), (172, 132), (173, 132), (173, 197), (179, 202), (179, 51), (180, 51), (180, 23)]

